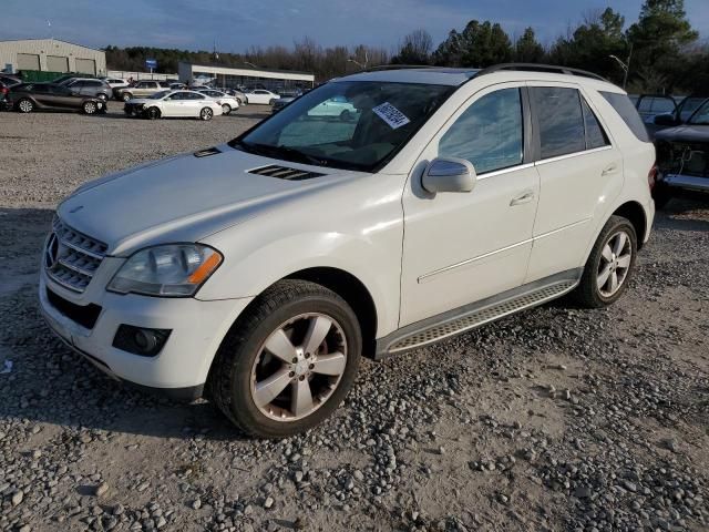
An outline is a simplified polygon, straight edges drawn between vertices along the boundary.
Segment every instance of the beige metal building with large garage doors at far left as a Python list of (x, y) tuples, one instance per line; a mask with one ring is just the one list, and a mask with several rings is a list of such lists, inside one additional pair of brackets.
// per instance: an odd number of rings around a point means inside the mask
[(106, 54), (102, 50), (56, 39), (0, 41), (0, 70), (81, 72), (100, 75), (106, 73)]

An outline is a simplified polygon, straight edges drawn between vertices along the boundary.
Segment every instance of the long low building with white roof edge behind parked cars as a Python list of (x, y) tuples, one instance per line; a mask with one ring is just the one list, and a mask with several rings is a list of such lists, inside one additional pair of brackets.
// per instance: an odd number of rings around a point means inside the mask
[(223, 66), (218, 64), (195, 64), (181, 61), (177, 65), (179, 81), (191, 84), (214, 81), (218, 86), (288, 89), (311, 88), (315, 74), (290, 70), (259, 69), (250, 66)]

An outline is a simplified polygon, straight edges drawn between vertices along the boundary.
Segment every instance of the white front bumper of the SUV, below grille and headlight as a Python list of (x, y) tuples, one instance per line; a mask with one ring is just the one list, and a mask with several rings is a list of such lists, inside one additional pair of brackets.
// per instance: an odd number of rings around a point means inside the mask
[[(49, 300), (48, 288), (71, 301), (71, 294), (49, 279), (42, 268), (39, 287), (42, 315), (54, 334), (72, 349), (113, 378), (191, 399), (201, 393), (222, 339), (251, 300), (203, 301), (119, 295), (93, 287), (86, 290), (93, 295), (92, 300), (81, 301), (101, 307), (95, 325), (89, 329), (55, 308)], [(172, 334), (157, 355), (144, 357), (112, 346), (122, 324), (171, 329)]]

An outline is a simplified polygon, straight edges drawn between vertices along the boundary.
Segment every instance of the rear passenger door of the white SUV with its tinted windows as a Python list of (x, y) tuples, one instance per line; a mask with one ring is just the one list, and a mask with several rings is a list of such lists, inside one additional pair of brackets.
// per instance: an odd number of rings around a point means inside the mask
[(594, 219), (623, 188), (623, 157), (590, 99), (571, 83), (530, 82), (541, 195), (525, 283), (580, 268)]

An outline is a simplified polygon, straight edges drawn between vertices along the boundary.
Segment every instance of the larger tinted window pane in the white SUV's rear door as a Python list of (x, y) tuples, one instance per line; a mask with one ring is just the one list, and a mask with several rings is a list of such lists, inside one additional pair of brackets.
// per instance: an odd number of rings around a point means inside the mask
[(578, 91), (543, 86), (531, 92), (540, 122), (542, 158), (583, 152), (586, 140)]

